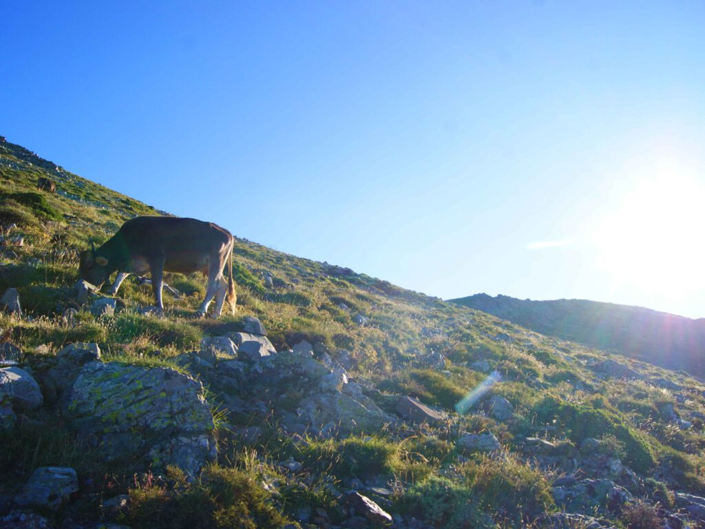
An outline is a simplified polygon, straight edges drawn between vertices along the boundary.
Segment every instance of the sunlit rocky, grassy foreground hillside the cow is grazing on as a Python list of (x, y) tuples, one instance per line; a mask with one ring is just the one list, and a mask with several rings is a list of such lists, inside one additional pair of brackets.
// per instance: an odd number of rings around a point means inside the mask
[(684, 372), (241, 238), (236, 316), (167, 274), (159, 317), (148, 278), (77, 281), (89, 238), (156, 210), (6, 141), (0, 193), (4, 528), (705, 520)]

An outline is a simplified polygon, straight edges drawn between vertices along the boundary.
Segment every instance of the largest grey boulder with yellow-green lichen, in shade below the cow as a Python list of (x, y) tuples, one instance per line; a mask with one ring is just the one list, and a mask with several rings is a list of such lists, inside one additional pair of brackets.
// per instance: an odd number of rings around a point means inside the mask
[(188, 460), (185, 470), (193, 471), (214, 454), (203, 437), (210, 439), (214, 427), (203, 386), (175, 370), (87, 363), (64, 413), (109, 459), (152, 450), (157, 468)]

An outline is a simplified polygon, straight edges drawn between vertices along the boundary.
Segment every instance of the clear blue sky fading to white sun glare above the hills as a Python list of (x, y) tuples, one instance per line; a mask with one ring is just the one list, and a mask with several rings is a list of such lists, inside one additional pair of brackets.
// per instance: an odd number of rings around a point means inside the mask
[(0, 4), (0, 134), (441, 298), (705, 317), (701, 1)]

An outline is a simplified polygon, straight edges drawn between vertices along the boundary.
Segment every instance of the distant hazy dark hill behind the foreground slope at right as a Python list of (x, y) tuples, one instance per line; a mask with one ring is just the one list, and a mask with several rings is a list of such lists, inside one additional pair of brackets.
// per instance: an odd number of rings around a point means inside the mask
[(705, 319), (588, 300), (534, 301), (475, 294), (450, 303), (541, 334), (705, 376)]

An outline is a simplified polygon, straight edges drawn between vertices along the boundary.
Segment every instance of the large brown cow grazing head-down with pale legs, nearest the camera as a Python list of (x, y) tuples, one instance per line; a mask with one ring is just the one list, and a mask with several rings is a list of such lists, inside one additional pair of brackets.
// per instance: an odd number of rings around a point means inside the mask
[[(213, 224), (197, 219), (179, 217), (135, 217), (100, 248), (80, 253), (79, 273), (82, 279), (100, 287), (113, 272), (118, 272), (110, 292), (115, 295), (130, 274), (152, 273), (154, 301), (160, 313), (161, 288), (164, 272), (192, 274), (202, 272), (208, 277), (206, 297), (199, 308), (205, 316), (208, 305), (216, 298), (214, 318), (221, 315), (227, 300), (235, 313), (235, 285), (233, 281), (233, 245), (231, 233)], [(223, 268), (228, 263), (226, 284)]]

